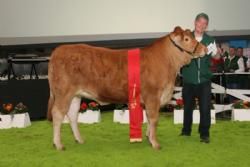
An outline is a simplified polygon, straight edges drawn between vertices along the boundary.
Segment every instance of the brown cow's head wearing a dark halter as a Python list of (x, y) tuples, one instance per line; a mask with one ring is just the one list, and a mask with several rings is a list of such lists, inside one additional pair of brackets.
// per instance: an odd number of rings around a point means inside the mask
[(191, 58), (202, 57), (207, 52), (207, 48), (194, 38), (189, 29), (184, 31), (181, 27), (175, 27), (174, 31), (170, 33), (169, 39), (180, 53)]

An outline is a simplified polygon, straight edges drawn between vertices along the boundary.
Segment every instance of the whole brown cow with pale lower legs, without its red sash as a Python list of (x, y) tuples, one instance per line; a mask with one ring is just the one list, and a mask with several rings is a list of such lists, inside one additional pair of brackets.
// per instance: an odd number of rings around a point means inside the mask
[[(66, 114), (75, 140), (83, 143), (77, 124), (81, 97), (100, 104), (128, 102), (127, 51), (74, 44), (59, 46), (52, 53), (48, 118), (53, 118), (53, 142), (58, 150), (64, 148), (60, 131)], [(146, 108), (146, 135), (153, 148), (160, 148), (156, 139), (159, 108), (171, 99), (178, 71), (206, 52), (190, 30), (180, 27), (141, 49), (141, 103)]]

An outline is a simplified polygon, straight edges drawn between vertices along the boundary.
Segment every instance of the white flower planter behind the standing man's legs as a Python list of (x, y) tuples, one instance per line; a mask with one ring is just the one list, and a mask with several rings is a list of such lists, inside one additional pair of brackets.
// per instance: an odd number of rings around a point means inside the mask
[[(183, 116), (184, 116), (184, 102), (183, 99), (177, 99), (176, 105), (174, 109), (174, 124), (181, 124), (183, 123)], [(211, 107), (211, 123), (215, 124), (215, 110)], [(198, 105), (198, 99), (195, 99), (195, 107), (193, 111), (193, 123), (199, 124), (200, 123), (200, 111)]]

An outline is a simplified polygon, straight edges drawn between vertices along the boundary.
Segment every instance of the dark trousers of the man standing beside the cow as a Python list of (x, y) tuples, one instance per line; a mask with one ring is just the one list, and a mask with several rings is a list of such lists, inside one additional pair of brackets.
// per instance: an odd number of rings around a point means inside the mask
[(195, 98), (197, 98), (200, 110), (200, 137), (209, 137), (209, 129), (211, 125), (211, 82), (197, 85), (184, 83), (182, 97), (184, 100), (184, 121), (182, 132), (191, 134), (193, 110), (195, 108)]

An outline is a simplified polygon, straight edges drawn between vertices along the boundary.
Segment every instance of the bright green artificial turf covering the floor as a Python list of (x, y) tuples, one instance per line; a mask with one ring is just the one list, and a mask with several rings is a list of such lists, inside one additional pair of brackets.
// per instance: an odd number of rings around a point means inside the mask
[[(162, 113), (158, 138), (162, 149), (153, 150), (144, 137), (130, 144), (128, 125), (112, 122), (112, 112), (102, 113), (102, 122), (80, 125), (85, 144), (76, 144), (69, 125), (63, 125), (65, 151), (52, 146), (48, 121), (32, 122), (25, 129), (0, 130), (0, 167), (249, 167), (250, 122), (217, 121), (211, 128), (211, 143), (199, 142), (197, 125), (191, 137), (178, 136), (181, 125)], [(144, 132), (145, 132), (144, 125)]]

